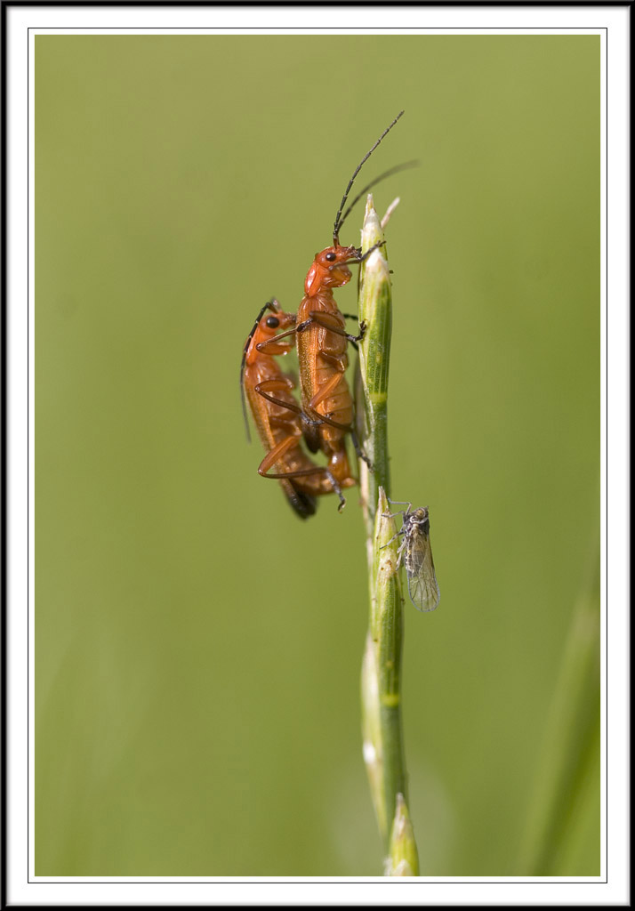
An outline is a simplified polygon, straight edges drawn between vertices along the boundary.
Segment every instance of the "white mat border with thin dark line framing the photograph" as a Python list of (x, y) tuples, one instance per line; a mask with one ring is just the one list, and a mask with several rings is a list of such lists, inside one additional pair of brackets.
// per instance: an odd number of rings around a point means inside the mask
[[(325, 29), (324, 10), (334, 12), (336, 27)], [(587, 905), (629, 902), (629, 778), (628, 778), (628, 371), (629, 371), (629, 94), (630, 8), (624, 6), (420, 6), (420, 7), (249, 7), (251, 27), (241, 29), (240, 7), (144, 7), (144, 6), (7, 6), (7, 355), (8, 355), (8, 615), (7, 615), (7, 844), (6, 898), (9, 906), (28, 905), (277, 905), (277, 904), (466, 904), (466, 905)], [(361, 23), (364, 23), (364, 26)], [(564, 879), (445, 879), (387, 880), (289, 878), (262, 880), (149, 879), (99, 881), (87, 878), (35, 879), (27, 881), (33, 856), (27, 852), (27, 794), (32, 757), (27, 751), (28, 719), (33, 705), (27, 702), (27, 616), (33, 604), (33, 337), (28, 338), (27, 312), (33, 333), (33, 218), (27, 219), (26, 188), (33, 149), (27, 146), (27, 127), (33, 137), (32, 98), (27, 97), (27, 47), (35, 32), (89, 33), (168, 29), (179, 34), (210, 30), (229, 34), (312, 34), (335, 31), (391, 34), (420, 31), (497, 34), (523, 30), (565, 33), (585, 30), (603, 39), (608, 71), (608, 130), (602, 130), (602, 200), (607, 203), (603, 220), (602, 257), (602, 650), (603, 670), (608, 675), (606, 705), (608, 738), (602, 730), (602, 771), (608, 780), (603, 788), (602, 808), (608, 817), (607, 855), (602, 871), (608, 882), (589, 878)], [(29, 32), (28, 30), (31, 29)], [(31, 65), (33, 55), (31, 53)], [(602, 77), (604, 77), (602, 67)], [(31, 74), (32, 76), (32, 74)], [(33, 87), (33, 79), (30, 80)], [(604, 103), (605, 93), (602, 91)], [(30, 103), (29, 103), (30, 102)], [(606, 179), (608, 169), (609, 179)], [(31, 172), (32, 179), (32, 172)], [(32, 185), (31, 185), (32, 189)], [(30, 192), (29, 204), (32, 205)], [(604, 239), (608, 230), (609, 259)], [(27, 234), (27, 231), (30, 232)], [(608, 272), (605, 271), (608, 265)], [(27, 285), (27, 276), (31, 276)], [(608, 288), (608, 301), (606, 290)], [(28, 309), (27, 309), (28, 301)], [(606, 348), (604, 342), (606, 341)], [(28, 346), (28, 347), (27, 347)], [(608, 356), (607, 356), (608, 354)], [(607, 386), (608, 382), (608, 386)], [(608, 403), (608, 404), (607, 404)], [(607, 426), (609, 435), (607, 434)], [(27, 431), (30, 447), (27, 447)], [(607, 478), (610, 484), (607, 486)], [(29, 490), (28, 504), (26, 492)], [(606, 506), (606, 522), (605, 509)], [(30, 516), (29, 516), (30, 512)], [(27, 526), (28, 517), (28, 526)], [(27, 530), (29, 551), (27, 550)], [(607, 540), (609, 551), (607, 551)], [(605, 593), (609, 591), (609, 624)], [(27, 610), (28, 608), (28, 610)], [(606, 639), (608, 635), (608, 641)], [(29, 650), (32, 643), (28, 645)], [(608, 656), (608, 660), (607, 660)], [(33, 661), (31, 673), (33, 673)], [(31, 700), (33, 686), (30, 687)], [(32, 731), (31, 731), (32, 734)], [(30, 746), (33, 746), (32, 736)], [(606, 800), (605, 800), (606, 793)], [(32, 810), (32, 802), (31, 802)], [(604, 814), (603, 814), (604, 824)], [(33, 820), (30, 834), (33, 837)], [(33, 845), (31, 844), (31, 849)], [(308, 885), (311, 884), (311, 885)], [(384, 886), (377, 888), (378, 885)]]

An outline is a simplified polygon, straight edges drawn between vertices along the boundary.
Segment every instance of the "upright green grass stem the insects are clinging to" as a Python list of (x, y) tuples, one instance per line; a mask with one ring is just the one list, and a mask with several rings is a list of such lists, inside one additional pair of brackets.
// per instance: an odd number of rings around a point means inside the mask
[[(369, 196), (362, 250), (383, 233)], [(360, 319), (366, 323), (356, 382), (358, 434), (373, 463), (360, 464), (369, 568), (370, 619), (362, 669), (364, 761), (388, 875), (418, 875), (416, 844), (407, 809), (401, 713), (403, 598), (397, 571), (394, 519), (388, 513), (387, 398), (392, 299), (384, 249), (364, 261), (360, 277)]]

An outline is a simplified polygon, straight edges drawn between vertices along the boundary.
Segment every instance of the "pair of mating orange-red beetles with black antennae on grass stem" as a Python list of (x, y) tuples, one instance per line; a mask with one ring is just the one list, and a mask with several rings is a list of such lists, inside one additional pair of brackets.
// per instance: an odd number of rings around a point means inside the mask
[[(245, 343), (241, 362), (241, 395), (245, 420), (248, 403), (266, 455), (258, 468), (265, 477), (277, 478), (298, 516), (315, 512), (315, 497), (335, 493), (344, 504), (343, 489), (353, 486), (346, 452), (346, 435), (351, 435), (357, 455), (361, 450), (353, 429), (353, 396), (346, 381), (348, 343), (359, 342), (360, 332), (346, 332), (346, 317), (333, 297), (333, 289), (351, 280), (349, 268), (361, 263), (374, 251), (362, 255), (357, 247), (340, 243), (343, 221), (364, 193), (399, 166), (385, 172), (364, 187), (343, 213), (353, 180), (384, 136), (404, 111), (394, 118), (353, 171), (333, 225), (333, 245), (316, 253), (304, 281), (304, 297), (297, 314), (284, 312), (275, 300), (266, 303), (258, 314)], [(301, 404), (293, 397), (294, 381), (285, 374), (276, 358), (297, 347), (300, 364)], [(249, 430), (248, 430), (249, 433)], [(302, 439), (311, 453), (322, 452), (326, 465), (319, 466), (302, 449)], [(273, 470), (271, 470), (273, 469)]]

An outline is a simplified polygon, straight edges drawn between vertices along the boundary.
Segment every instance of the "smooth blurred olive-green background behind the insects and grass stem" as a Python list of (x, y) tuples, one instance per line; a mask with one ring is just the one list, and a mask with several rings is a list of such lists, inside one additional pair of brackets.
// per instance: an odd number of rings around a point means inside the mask
[(535, 35), (36, 37), (36, 875), (381, 874), (358, 496), (296, 518), (238, 379), (402, 107), (363, 177), (421, 160), (375, 200), (442, 592), (405, 605), (422, 875), (599, 875), (597, 670), (548, 733), (580, 597), (597, 635), (599, 36)]

